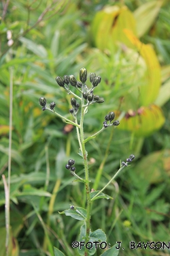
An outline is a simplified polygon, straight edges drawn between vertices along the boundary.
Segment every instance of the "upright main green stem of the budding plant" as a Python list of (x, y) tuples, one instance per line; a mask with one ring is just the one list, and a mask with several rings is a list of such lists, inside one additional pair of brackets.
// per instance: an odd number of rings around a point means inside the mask
[[(82, 86), (82, 91), (84, 90), (84, 85)], [(86, 215), (86, 238), (85, 244), (89, 240), (90, 236), (90, 210), (91, 210), (91, 201), (90, 201), (90, 186), (89, 186), (89, 175), (88, 175), (88, 159), (86, 155), (86, 148), (84, 143), (84, 98), (82, 96), (82, 107), (81, 107), (81, 118), (80, 118), (80, 140), (82, 143), (82, 156), (84, 160), (84, 171), (85, 171), (85, 179), (86, 179), (86, 199), (87, 199), (87, 215)], [(85, 247), (84, 255), (88, 256), (88, 248)]]

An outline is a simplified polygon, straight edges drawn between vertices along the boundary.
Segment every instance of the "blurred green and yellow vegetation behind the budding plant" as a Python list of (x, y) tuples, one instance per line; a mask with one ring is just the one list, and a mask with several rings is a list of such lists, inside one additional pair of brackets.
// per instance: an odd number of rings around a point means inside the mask
[(130, 241), (170, 238), (169, 1), (1, 1), (0, 35), (0, 255), (8, 175), (10, 255), (53, 255), (53, 246), (78, 255), (71, 243), (82, 223), (58, 213), (85, 204), (84, 186), (65, 169), (73, 158), (83, 173), (76, 132), (41, 111), (39, 97), (70, 117), (71, 96), (55, 78), (78, 77), (82, 67), (102, 77), (96, 92), (105, 98), (86, 115), (86, 134), (97, 132), (109, 111), (120, 119), (120, 128), (87, 145), (91, 188), (103, 187), (120, 160), (136, 156), (105, 191), (114, 200), (93, 203), (92, 229), (102, 228), (111, 246), (122, 241), (121, 256), (169, 255), (168, 249), (129, 248)]

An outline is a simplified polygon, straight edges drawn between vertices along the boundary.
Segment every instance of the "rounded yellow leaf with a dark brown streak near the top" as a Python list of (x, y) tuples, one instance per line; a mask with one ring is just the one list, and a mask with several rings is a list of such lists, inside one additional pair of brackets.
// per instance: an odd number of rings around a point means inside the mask
[(123, 29), (131, 29), (136, 34), (135, 18), (126, 6), (107, 6), (98, 12), (92, 22), (92, 38), (101, 50), (109, 49), (119, 42), (133, 46)]

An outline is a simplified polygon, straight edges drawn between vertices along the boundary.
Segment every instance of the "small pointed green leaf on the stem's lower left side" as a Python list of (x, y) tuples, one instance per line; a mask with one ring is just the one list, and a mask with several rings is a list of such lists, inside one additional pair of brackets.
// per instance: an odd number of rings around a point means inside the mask
[(71, 216), (72, 218), (75, 218), (75, 220), (78, 221), (86, 221), (86, 210), (81, 207), (76, 207), (74, 210), (65, 210), (63, 212), (59, 212), (59, 214), (65, 214), (66, 216)]

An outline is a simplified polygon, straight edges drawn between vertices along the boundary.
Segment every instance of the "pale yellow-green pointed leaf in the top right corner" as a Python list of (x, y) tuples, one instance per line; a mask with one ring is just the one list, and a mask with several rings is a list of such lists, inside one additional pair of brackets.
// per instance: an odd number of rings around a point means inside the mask
[(137, 36), (139, 38), (152, 27), (162, 5), (162, 0), (148, 1), (148, 3), (144, 3), (133, 12), (137, 24)]

